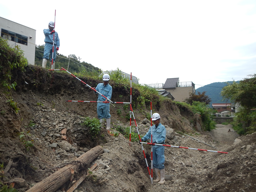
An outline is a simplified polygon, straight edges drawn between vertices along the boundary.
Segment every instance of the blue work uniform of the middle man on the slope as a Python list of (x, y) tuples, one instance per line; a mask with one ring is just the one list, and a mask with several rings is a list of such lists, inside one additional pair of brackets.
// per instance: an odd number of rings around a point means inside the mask
[[(104, 85), (103, 83), (99, 83), (97, 87), (95, 88), (98, 92), (100, 92), (102, 95), (107, 97), (109, 100), (111, 100), (112, 97), (112, 87), (107, 84)], [(98, 101), (105, 101), (106, 98), (98, 95)], [(99, 119), (108, 119), (110, 118), (110, 110), (109, 110), (109, 103), (97, 103), (97, 114)]]

